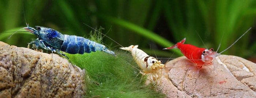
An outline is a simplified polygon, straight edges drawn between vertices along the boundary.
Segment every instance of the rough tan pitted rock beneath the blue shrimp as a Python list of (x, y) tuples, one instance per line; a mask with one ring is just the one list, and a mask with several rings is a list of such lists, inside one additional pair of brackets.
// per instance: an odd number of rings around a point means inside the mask
[(84, 70), (57, 54), (0, 41), (0, 98), (79, 98)]

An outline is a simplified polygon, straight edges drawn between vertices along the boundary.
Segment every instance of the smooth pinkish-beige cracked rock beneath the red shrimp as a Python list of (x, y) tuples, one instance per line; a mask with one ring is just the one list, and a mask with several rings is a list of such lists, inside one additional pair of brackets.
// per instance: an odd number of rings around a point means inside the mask
[(162, 77), (159, 90), (168, 98), (256, 98), (255, 63), (241, 57), (220, 55), (212, 62), (218, 66), (216, 70), (204, 67), (199, 73), (184, 67), (189, 64), (186, 57), (166, 64), (170, 72), (168, 78)]

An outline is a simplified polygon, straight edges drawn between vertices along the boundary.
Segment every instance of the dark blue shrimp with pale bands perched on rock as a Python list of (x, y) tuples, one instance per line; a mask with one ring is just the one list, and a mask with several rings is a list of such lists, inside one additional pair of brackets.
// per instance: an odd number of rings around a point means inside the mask
[(116, 56), (115, 53), (106, 48), (105, 45), (90, 41), (89, 39), (86, 39), (84, 37), (61, 34), (57, 30), (42, 26), (35, 27), (37, 28), (37, 30), (28, 25), (27, 27), (24, 27), (22, 29), (29, 31), (30, 33), (35, 34), (38, 37), (36, 40), (29, 43), (29, 45), (35, 44), (36, 48), (42, 47), (46, 50), (50, 50), (52, 53), (57, 52), (65, 56), (66, 58), (68, 57), (63, 54), (63, 52), (69, 54), (84, 54), (96, 52), (96, 50)]

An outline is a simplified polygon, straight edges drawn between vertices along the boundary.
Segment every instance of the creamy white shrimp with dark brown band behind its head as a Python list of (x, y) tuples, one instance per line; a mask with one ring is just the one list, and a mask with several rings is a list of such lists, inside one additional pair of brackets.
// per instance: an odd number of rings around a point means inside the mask
[(153, 80), (158, 80), (159, 78), (161, 78), (162, 69), (166, 69), (165, 65), (162, 64), (162, 60), (158, 61), (156, 58), (148, 56), (148, 54), (138, 49), (138, 45), (131, 45), (129, 47), (124, 47), (120, 49), (127, 50), (132, 53), (133, 59), (143, 70), (140, 73), (142, 73), (143, 75), (151, 74)]

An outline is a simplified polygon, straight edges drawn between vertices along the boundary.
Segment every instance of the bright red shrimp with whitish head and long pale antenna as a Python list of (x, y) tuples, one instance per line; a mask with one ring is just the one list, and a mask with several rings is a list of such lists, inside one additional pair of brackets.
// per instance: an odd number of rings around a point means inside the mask
[[(248, 29), (245, 33), (247, 33), (250, 29)], [(244, 34), (242, 36), (244, 36)], [(239, 37), (232, 45), (234, 45), (241, 37)], [(186, 38), (184, 38), (177, 44), (165, 49), (174, 49), (174, 48), (180, 49), (181, 53), (184, 54), (184, 56), (187, 57), (194, 64), (196, 64), (197, 65), (196, 68), (199, 68), (199, 69), (201, 69), (203, 66), (212, 65), (212, 60), (215, 57), (219, 56), (221, 53), (223, 53), (224, 51), (226, 51), (232, 46), (230, 45), (227, 49), (223, 50), (220, 53), (217, 53), (213, 51), (213, 48), (208, 50), (205, 48), (198, 48), (190, 44), (184, 44), (185, 40)], [(214, 69), (216, 69), (216, 67)]]

